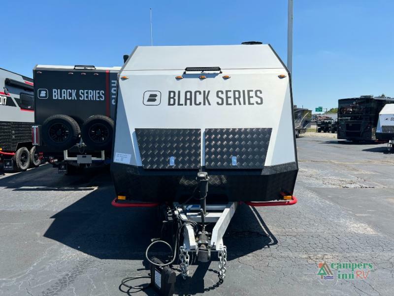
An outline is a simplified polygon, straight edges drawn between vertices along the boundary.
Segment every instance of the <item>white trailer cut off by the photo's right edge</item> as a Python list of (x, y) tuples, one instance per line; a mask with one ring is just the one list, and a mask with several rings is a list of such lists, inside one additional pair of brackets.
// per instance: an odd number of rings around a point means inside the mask
[(388, 148), (394, 148), (394, 104), (386, 104), (379, 112), (376, 139), (389, 141)]

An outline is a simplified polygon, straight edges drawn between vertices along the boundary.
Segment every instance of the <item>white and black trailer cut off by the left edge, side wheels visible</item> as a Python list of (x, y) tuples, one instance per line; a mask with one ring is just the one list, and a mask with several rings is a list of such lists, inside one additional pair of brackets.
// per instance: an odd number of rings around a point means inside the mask
[(0, 159), (4, 170), (25, 171), (38, 166), (32, 145), (33, 79), (0, 69)]

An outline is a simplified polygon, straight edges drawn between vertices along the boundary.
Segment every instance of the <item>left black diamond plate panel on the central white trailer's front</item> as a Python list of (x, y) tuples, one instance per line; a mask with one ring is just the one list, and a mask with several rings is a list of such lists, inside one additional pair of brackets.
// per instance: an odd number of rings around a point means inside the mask
[[(200, 168), (200, 129), (136, 128), (135, 134), (144, 169)], [(170, 165), (171, 156), (174, 165)]]

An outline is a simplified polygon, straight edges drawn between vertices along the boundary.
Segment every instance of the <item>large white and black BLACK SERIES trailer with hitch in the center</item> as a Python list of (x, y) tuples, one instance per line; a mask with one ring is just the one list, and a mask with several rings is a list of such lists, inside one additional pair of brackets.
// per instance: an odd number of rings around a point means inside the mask
[(238, 202), (296, 203), (294, 131), (290, 74), (270, 45), (137, 46), (119, 73), (112, 204), (161, 205), (183, 234), (182, 276), (188, 252), (216, 251), (223, 279)]

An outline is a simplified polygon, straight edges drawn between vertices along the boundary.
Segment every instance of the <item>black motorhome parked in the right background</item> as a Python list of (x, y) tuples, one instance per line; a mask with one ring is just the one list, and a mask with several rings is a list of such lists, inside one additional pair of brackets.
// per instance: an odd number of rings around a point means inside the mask
[(338, 139), (375, 141), (379, 112), (393, 98), (361, 96), (338, 100)]

